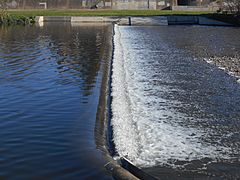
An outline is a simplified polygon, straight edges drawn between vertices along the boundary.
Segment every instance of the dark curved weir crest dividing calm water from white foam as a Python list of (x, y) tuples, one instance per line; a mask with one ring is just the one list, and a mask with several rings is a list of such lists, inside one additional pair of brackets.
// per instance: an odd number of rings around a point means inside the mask
[[(113, 56), (114, 56), (114, 38), (115, 28), (110, 28), (112, 36), (105, 39), (106, 49), (104, 50), (103, 58), (107, 59), (106, 64), (103, 66), (102, 71), (104, 72), (100, 104), (98, 106), (97, 121), (96, 121), (96, 139), (97, 146), (103, 151), (106, 160), (105, 168), (111, 172), (115, 179), (157, 179), (141, 169), (135, 167), (126, 158), (120, 158), (114, 160), (113, 157), (118, 156), (115, 144), (113, 142), (113, 129), (111, 124), (112, 119), (112, 73), (113, 73)], [(99, 139), (99, 136), (101, 139)]]

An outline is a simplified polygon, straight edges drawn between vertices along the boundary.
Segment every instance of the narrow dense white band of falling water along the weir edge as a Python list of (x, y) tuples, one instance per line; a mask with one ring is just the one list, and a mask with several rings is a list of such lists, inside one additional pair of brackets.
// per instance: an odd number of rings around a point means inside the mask
[[(117, 25), (115, 25), (117, 27)], [(124, 52), (121, 45), (121, 34), (119, 28), (115, 28), (114, 36), (114, 63), (113, 63), (113, 82), (112, 82), (112, 125), (114, 128), (113, 136), (118, 152), (129, 152), (129, 154), (138, 153), (138, 141), (136, 126), (131, 121), (132, 113), (128, 97), (128, 89), (125, 80), (124, 70)], [(131, 138), (123, 138), (131, 137)], [(128, 153), (124, 154), (126, 156)]]

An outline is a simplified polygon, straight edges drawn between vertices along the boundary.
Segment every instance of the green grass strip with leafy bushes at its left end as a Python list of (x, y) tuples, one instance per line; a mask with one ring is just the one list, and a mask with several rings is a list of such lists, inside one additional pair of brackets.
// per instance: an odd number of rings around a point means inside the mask
[[(0, 25), (26, 25), (35, 23), (35, 17), (155, 17), (207, 15), (207, 11), (159, 11), (159, 10), (7, 10), (0, 13)], [(67, 19), (67, 18), (66, 18)], [(62, 21), (62, 20), (61, 20)]]

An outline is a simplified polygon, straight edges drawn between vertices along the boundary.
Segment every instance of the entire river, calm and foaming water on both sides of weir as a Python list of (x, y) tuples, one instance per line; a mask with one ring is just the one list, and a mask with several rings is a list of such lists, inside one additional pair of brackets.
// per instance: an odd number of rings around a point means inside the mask
[[(112, 179), (99, 117), (111, 30), (0, 28), (0, 179)], [(239, 42), (232, 27), (115, 26), (114, 158), (163, 179), (239, 178)]]

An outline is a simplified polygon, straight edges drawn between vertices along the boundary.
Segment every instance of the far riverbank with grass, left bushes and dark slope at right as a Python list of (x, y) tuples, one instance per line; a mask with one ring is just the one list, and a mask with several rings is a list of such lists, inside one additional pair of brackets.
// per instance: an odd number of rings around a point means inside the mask
[[(240, 18), (230, 14), (217, 14), (208, 11), (171, 11), (171, 10), (8, 10), (7, 24), (29, 24), (34, 17), (160, 17), (185, 16), (203, 17), (240, 26)], [(191, 21), (192, 22), (192, 21)], [(0, 22), (1, 24), (1, 22)], [(196, 24), (196, 23), (195, 23)], [(211, 24), (211, 23), (210, 23)], [(214, 24), (213, 24), (214, 25)]]

